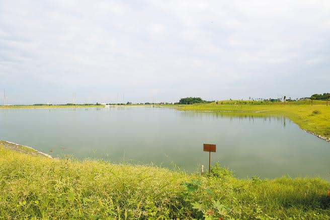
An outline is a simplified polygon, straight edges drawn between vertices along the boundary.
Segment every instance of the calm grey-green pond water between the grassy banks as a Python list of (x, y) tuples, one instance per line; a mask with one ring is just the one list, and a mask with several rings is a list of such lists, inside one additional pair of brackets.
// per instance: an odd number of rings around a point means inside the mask
[[(0, 109), (0, 139), (53, 155), (153, 163), (194, 172), (212, 161), (236, 177), (320, 176), (330, 180), (330, 144), (284, 117), (171, 108)], [(62, 147), (65, 149), (62, 150)], [(52, 150), (52, 153), (49, 153)]]

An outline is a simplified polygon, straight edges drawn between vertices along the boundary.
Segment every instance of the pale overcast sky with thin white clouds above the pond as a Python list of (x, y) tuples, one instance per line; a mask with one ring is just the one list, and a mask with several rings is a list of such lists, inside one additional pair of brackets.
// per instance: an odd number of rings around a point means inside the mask
[(330, 1), (0, 1), (0, 105), (330, 92)]

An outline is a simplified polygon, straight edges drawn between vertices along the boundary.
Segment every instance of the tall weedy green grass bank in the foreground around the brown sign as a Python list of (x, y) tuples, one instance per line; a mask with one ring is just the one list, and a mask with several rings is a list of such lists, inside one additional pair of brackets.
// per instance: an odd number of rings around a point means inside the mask
[(50, 159), (0, 142), (0, 219), (330, 219), (328, 188), (319, 178), (236, 179), (216, 166), (208, 178)]

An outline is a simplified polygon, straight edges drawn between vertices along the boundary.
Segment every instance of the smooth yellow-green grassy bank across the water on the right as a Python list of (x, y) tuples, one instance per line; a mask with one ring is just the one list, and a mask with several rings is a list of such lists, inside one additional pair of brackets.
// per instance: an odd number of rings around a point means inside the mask
[[(222, 104), (221, 104), (222, 103)], [(260, 101), (218, 101), (218, 104), (195, 104), (179, 107), (180, 110), (214, 111), (249, 113), (251, 115), (286, 116), (300, 128), (315, 134), (330, 138), (330, 102), (325, 101), (297, 101), (297, 102), (260, 102)], [(230, 114), (230, 113), (228, 113)]]

